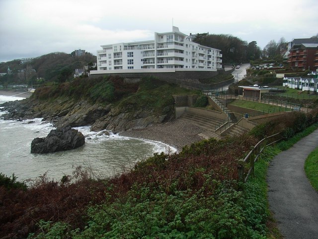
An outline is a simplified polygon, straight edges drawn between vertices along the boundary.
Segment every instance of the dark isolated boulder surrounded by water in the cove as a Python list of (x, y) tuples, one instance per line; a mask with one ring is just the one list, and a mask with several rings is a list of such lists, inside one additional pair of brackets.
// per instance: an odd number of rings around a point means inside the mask
[(78, 148), (85, 143), (84, 135), (69, 127), (53, 129), (44, 138), (35, 138), (31, 143), (31, 153), (53, 153)]

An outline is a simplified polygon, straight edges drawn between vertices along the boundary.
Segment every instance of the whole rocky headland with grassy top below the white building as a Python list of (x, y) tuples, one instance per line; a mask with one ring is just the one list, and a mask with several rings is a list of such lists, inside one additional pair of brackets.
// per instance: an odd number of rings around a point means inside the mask
[(91, 125), (114, 133), (174, 118), (172, 95), (197, 94), (153, 78), (126, 83), (119, 77), (77, 79), (38, 88), (32, 97), (8, 102), (4, 119), (43, 118), (56, 127)]

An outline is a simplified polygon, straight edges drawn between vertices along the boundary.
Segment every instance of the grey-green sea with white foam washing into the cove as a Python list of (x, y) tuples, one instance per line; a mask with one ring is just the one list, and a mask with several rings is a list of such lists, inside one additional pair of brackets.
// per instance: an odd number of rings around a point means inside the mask
[[(22, 100), (21, 97), (0, 95), (0, 104)], [(17, 177), (17, 181), (33, 181), (44, 175), (59, 181), (73, 175), (76, 169), (89, 172), (94, 178), (107, 178), (130, 170), (135, 163), (154, 153), (173, 153), (175, 148), (159, 141), (110, 135), (75, 127), (85, 136), (85, 144), (77, 149), (48, 154), (31, 153), (31, 142), (45, 137), (55, 127), (42, 119), (3, 120), (0, 112), (0, 173)]]

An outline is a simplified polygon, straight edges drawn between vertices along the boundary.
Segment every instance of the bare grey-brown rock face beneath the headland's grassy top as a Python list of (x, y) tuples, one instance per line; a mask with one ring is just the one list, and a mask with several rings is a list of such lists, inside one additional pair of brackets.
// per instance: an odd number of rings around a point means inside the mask
[(174, 118), (173, 105), (168, 105), (161, 111), (147, 108), (132, 111), (129, 104), (123, 107), (112, 104), (92, 104), (85, 100), (76, 101), (74, 99), (55, 99), (53, 101), (25, 99), (8, 102), (3, 106), (3, 110), (8, 111), (3, 115), (4, 119), (43, 118), (43, 120), (53, 122), (59, 128), (91, 125), (92, 131), (108, 129), (114, 133), (145, 128)]

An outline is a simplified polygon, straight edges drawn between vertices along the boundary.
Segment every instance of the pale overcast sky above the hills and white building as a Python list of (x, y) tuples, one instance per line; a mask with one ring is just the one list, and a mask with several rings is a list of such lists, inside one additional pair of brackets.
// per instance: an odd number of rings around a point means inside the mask
[(185, 34), (231, 34), (261, 49), (318, 33), (317, 0), (0, 0), (0, 62)]

